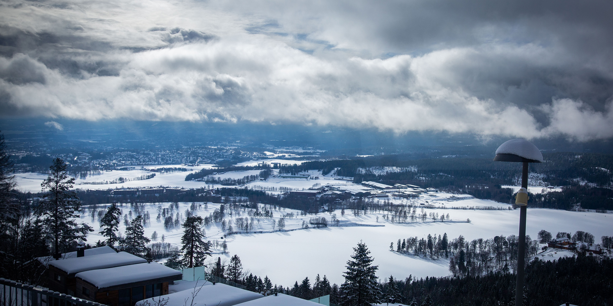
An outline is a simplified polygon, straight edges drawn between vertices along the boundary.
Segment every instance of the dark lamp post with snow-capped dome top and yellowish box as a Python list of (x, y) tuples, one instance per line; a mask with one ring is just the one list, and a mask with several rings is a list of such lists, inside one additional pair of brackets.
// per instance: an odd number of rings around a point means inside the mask
[(524, 297), (524, 265), (526, 249), (526, 211), (528, 206), (528, 163), (543, 162), (543, 154), (530, 141), (513, 139), (506, 141), (496, 150), (494, 162), (522, 163), (522, 188), (515, 196), (519, 210), (519, 246), (517, 248), (517, 280), (515, 285), (515, 306), (522, 305)]

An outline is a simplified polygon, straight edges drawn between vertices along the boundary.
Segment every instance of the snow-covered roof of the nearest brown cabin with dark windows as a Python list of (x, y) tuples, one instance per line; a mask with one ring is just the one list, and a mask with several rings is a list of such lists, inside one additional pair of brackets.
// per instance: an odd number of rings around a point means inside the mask
[(151, 262), (141, 264), (129, 264), (128, 266), (111, 267), (108, 269), (90, 270), (75, 275), (97, 288), (124, 285), (145, 280), (154, 280), (164, 277), (179, 277), (181, 271), (177, 271), (163, 264)]

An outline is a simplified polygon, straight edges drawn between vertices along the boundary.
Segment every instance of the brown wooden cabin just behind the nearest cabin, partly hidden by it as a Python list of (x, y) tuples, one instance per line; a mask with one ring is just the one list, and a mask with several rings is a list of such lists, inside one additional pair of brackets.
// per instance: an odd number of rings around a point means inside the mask
[(75, 274), (83, 271), (139, 263), (147, 263), (147, 260), (130, 253), (116, 253), (115, 251), (91, 256), (51, 260), (48, 262), (47, 285), (50, 290), (74, 296), (76, 293)]

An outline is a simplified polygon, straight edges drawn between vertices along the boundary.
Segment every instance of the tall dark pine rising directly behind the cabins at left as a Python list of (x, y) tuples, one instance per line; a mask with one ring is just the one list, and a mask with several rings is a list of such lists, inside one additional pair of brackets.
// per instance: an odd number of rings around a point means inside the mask
[(57, 158), (49, 167), (49, 176), (40, 184), (49, 193), (45, 195), (45, 201), (41, 201), (37, 207), (37, 212), (44, 219), (42, 224), (45, 232), (53, 239), (57, 259), (61, 250), (69, 246), (70, 241), (87, 241), (87, 233), (94, 231), (86, 223), (77, 224), (75, 221), (80, 217), (77, 212), (81, 209), (81, 202), (77, 193), (70, 190), (75, 182), (74, 177), (68, 177), (66, 163)]

